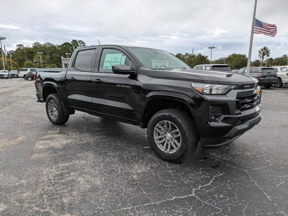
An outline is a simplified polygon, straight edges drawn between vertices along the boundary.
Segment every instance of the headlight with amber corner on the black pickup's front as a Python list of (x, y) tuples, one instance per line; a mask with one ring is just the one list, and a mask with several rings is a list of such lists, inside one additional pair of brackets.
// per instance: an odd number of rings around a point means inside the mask
[(228, 93), (231, 89), (236, 88), (235, 85), (221, 85), (221, 84), (210, 84), (202, 82), (192, 82), (191, 86), (199, 93), (205, 95), (223, 95)]

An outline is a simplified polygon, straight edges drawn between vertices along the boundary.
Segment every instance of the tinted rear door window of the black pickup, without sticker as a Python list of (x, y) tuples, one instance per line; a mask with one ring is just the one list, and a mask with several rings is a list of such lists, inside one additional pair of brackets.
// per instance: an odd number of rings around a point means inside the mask
[(80, 71), (92, 71), (92, 63), (96, 49), (84, 49), (77, 53), (74, 68)]

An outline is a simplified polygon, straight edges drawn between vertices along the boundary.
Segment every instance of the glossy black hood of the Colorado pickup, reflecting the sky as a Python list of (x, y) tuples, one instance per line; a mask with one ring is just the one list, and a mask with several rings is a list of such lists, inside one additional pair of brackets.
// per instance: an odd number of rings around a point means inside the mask
[[(244, 74), (212, 71), (212, 70), (197, 70), (197, 69), (172, 69), (159, 70), (165, 72), (165, 78), (173, 78), (176, 80), (185, 80), (191, 82), (207, 82), (218, 84), (255, 84), (258, 81)], [(154, 71), (155, 72), (155, 71)], [(158, 71), (157, 71), (158, 72)], [(158, 73), (158, 76), (160, 74)]]

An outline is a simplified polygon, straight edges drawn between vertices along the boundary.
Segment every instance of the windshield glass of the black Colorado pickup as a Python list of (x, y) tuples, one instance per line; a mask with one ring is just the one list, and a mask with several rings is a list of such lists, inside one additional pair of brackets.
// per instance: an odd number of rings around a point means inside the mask
[(149, 69), (172, 70), (190, 67), (174, 55), (160, 49), (128, 47), (128, 49)]

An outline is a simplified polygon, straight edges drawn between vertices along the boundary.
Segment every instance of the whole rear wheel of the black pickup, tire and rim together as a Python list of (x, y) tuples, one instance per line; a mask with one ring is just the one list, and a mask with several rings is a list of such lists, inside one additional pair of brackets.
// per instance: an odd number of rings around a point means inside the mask
[(65, 124), (69, 115), (64, 115), (61, 100), (58, 94), (50, 94), (46, 99), (46, 113), (52, 124)]

